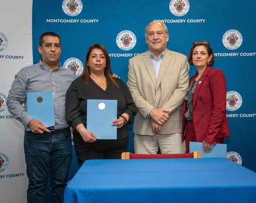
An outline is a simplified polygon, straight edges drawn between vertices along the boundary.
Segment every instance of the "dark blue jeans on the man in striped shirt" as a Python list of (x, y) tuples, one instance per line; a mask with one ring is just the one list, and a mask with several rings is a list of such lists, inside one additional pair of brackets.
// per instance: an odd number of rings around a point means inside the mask
[(48, 173), (50, 202), (63, 202), (72, 159), (70, 130), (55, 134), (25, 132), (24, 152), (29, 178), (28, 203), (45, 203)]

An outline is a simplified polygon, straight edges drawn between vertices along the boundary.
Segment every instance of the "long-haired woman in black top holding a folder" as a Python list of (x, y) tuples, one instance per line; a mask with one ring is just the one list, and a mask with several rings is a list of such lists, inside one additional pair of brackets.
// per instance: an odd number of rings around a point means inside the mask
[[(92, 45), (87, 52), (85, 70), (66, 92), (66, 118), (73, 127), (74, 144), (79, 164), (89, 159), (121, 159), (129, 142), (126, 125), (137, 110), (124, 82), (112, 77), (107, 50), (101, 44)], [(117, 140), (98, 140), (87, 130), (87, 99), (117, 100)], [(100, 127), (100, 123), (99, 123)]]

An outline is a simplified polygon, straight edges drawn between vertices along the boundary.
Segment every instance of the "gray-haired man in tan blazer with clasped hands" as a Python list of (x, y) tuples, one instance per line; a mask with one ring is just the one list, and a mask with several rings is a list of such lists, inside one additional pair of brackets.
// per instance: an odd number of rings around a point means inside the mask
[(185, 153), (181, 105), (189, 85), (187, 58), (168, 50), (168, 30), (153, 21), (145, 31), (149, 50), (129, 60), (127, 86), (139, 110), (134, 120), (135, 153)]

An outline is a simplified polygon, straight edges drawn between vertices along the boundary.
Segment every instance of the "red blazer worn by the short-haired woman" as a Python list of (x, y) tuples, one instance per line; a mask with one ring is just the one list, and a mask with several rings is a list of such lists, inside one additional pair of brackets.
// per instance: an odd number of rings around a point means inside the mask
[[(191, 77), (191, 81), (198, 73)], [(206, 67), (195, 88), (193, 97), (193, 123), (198, 142), (216, 144), (218, 137), (229, 137), (226, 117), (226, 79), (220, 69)], [(182, 107), (182, 137), (185, 140), (186, 100)]]

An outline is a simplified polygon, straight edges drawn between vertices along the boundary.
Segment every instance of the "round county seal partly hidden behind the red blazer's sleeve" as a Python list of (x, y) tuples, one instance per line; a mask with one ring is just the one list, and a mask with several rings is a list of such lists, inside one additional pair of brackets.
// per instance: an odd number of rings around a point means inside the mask
[(234, 111), (241, 107), (243, 99), (242, 96), (236, 91), (228, 91), (226, 101), (226, 109)]

